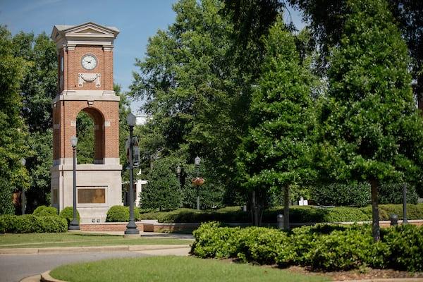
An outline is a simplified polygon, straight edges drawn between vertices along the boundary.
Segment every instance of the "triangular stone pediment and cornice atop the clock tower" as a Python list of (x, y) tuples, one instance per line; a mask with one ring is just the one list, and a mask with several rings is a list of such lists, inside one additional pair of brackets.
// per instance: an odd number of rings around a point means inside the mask
[(105, 45), (113, 44), (118, 35), (116, 27), (106, 27), (97, 23), (82, 23), (80, 25), (54, 25), (51, 39), (56, 44), (71, 42), (75, 44), (90, 44), (90, 42), (104, 41)]

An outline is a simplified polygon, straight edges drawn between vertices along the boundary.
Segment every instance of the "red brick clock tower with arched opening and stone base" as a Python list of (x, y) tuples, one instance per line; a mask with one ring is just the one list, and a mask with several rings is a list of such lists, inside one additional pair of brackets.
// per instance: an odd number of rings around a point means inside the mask
[[(119, 97), (113, 90), (113, 49), (118, 33), (116, 27), (97, 23), (55, 25), (51, 32), (59, 63), (58, 94), (52, 105), (51, 205), (59, 211), (73, 206), (71, 137), (77, 135), (77, 116), (84, 111), (94, 123), (94, 163), (76, 168), (81, 223), (104, 222), (109, 207), (122, 204)], [(76, 148), (78, 152), (78, 145)]]

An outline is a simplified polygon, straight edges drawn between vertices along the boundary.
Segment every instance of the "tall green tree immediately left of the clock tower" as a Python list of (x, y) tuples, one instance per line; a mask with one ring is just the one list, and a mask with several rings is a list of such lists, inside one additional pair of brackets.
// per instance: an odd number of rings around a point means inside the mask
[(27, 155), (27, 170), (32, 182), (27, 190), (27, 212), (50, 202), (52, 161), (51, 102), (57, 94), (56, 44), (43, 32), (19, 32), (12, 39), (14, 56), (25, 61), (20, 82), (21, 113), (29, 131), (28, 145), (34, 154)]

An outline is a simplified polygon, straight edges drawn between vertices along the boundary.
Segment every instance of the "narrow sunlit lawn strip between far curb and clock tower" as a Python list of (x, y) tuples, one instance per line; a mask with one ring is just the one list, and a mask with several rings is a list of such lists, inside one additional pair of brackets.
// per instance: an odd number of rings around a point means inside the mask
[(188, 245), (192, 240), (173, 238), (123, 238), (122, 235), (82, 233), (1, 234), (0, 248), (82, 247), (107, 245)]

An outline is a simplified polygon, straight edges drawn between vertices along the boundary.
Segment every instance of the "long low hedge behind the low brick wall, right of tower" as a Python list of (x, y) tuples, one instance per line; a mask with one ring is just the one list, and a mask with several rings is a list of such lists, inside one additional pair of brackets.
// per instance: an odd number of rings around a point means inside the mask
[[(283, 214), (283, 207), (264, 211), (262, 222), (274, 223), (276, 216)], [(389, 220), (391, 214), (403, 219), (402, 204), (380, 204), (380, 220)], [(195, 209), (176, 209), (171, 212), (145, 212), (140, 219), (157, 219), (159, 222), (250, 222), (250, 213), (238, 209), (219, 209), (217, 211), (197, 211)], [(407, 219), (423, 219), (423, 204), (407, 204)], [(372, 221), (372, 207), (331, 207), (310, 206), (290, 207), (290, 222), (322, 223), (342, 221)]]

